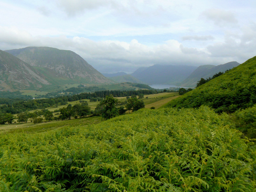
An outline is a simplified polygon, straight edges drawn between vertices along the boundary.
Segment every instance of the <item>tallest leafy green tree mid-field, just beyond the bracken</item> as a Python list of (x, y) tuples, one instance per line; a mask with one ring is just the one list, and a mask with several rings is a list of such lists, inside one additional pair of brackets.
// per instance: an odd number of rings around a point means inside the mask
[(113, 95), (106, 96), (106, 98), (101, 101), (101, 104), (104, 105), (104, 108), (102, 110), (103, 118), (110, 119), (119, 115), (118, 108), (116, 108), (116, 105), (118, 104), (118, 99), (114, 98)]

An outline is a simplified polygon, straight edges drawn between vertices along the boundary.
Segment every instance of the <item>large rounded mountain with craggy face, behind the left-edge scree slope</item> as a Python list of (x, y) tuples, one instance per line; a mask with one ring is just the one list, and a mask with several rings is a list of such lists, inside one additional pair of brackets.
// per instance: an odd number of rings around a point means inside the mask
[(6, 52), (34, 66), (53, 84), (111, 83), (111, 80), (104, 77), (73, 51), (50, 47), (26, 47), (6, 50)]

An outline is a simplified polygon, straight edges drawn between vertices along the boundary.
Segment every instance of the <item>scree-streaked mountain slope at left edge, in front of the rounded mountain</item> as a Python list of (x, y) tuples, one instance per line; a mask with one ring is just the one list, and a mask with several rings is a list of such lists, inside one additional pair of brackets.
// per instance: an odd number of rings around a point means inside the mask
[(49, 84), (31, 65), (0, 50), (0, 91), (41, 88)]

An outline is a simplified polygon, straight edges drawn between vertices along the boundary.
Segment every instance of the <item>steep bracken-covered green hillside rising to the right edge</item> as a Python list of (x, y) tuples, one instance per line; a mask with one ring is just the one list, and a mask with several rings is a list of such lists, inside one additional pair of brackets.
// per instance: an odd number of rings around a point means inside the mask
[(208, 81), (181, 97), (172, 100), (168, 107), (208, 105), (216, 112), (234, 112), (256, 104), (256, 56)]

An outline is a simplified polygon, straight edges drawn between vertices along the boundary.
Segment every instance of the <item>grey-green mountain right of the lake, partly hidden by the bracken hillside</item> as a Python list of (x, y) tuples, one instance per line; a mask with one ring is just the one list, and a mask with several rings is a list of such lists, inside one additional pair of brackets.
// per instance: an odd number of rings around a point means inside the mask
[(232, 69), (236, 66), (240, 65), (236, 61), (228, 62), (223, 65), (201, 65), (196, 70), (193, 71), (184, 81), (178, 84), (181, 87), (195, 87), (197, 82), (200, 81), (201, 78), (207, 79), (212, 77), (214, 74), (218, 72), (224, 72), (226, 70)]

